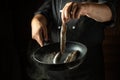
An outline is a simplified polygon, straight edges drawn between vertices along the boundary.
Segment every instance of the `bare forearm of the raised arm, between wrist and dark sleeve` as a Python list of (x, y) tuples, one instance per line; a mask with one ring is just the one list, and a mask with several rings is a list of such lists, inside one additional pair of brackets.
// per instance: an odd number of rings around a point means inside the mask
[(99, 22), (106, 22), (112, 19), (112, 12), (105, 4), (83, 3), (82, 5), (81, 11), (83, 11), (83, 15)]

